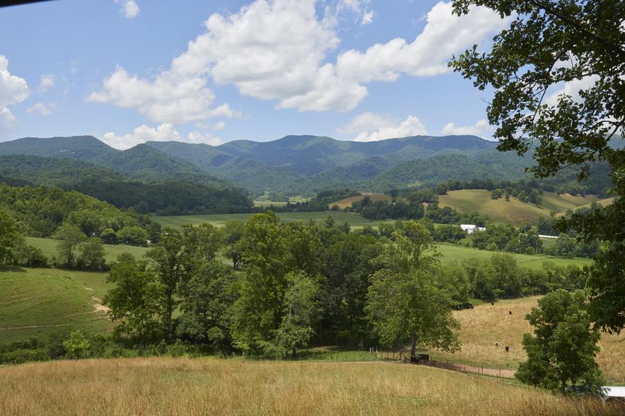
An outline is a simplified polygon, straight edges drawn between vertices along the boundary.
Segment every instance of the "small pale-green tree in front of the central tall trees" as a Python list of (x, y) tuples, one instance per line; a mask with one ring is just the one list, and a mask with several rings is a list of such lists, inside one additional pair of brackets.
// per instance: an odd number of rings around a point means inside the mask
[(319, 308), (319, 283), (306, 272), (290, 272), (286, 276), (288, 289), (284, 296), (282, 322), (276, 330), (276, 345), (283, 352), (297, 357), (297, 348), (306, 347), (315, 334), (313, 324)]

